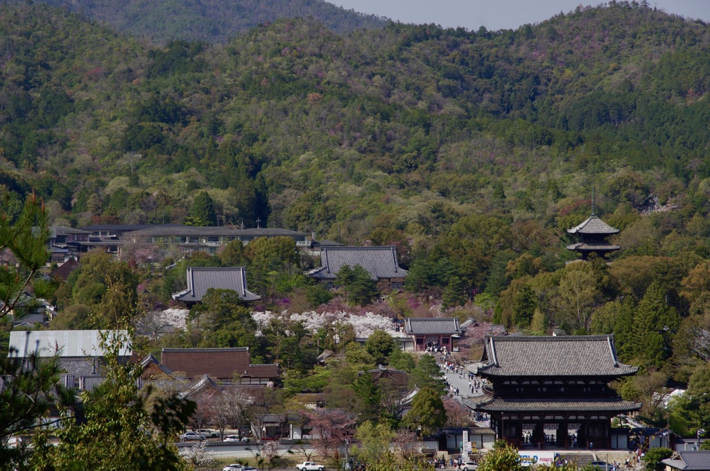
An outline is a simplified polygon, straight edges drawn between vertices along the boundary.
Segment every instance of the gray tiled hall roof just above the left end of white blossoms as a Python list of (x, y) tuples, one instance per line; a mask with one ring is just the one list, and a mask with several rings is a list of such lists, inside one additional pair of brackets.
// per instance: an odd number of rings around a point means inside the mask
[(231, 289), (244, 301), (256, 301), (261, 296), (246, 289), (246, 271), (244, 266), (226, 268), (190, 266), (187, 267), (187, 289), (173, 293), (175, 301), (197, 303), (209, 288)]

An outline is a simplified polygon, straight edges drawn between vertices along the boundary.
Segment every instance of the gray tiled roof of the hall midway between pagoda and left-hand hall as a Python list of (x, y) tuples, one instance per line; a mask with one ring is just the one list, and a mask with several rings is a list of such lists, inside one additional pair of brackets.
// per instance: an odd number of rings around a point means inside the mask
[(400, 269), (395, 247), (323, 247), (320, 253), (320, 268), (311, 270), (308, 276), (320, 279), (335, 279), (344, 265), (359, 265), (366, 269), (374, 280), (381, 278), (404, 278), (409, 272)]

